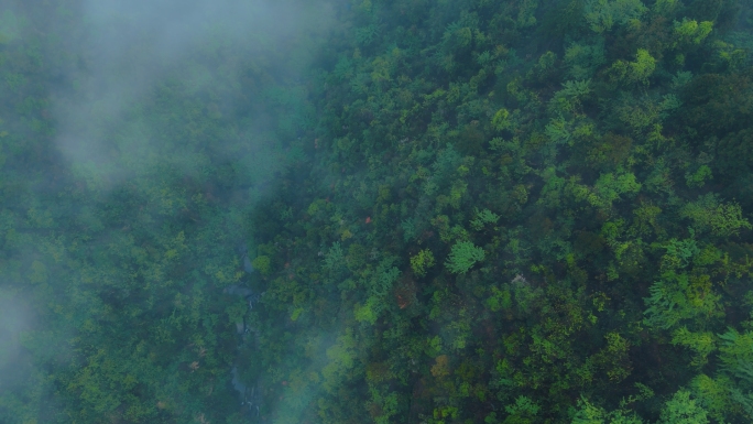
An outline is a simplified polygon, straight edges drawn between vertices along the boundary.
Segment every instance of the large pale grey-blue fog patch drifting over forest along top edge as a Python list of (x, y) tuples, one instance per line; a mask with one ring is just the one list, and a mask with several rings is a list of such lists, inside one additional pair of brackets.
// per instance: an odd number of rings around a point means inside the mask
[[(270, 154), (268, 144), (275, 140), (265, 133), (269, 119), (260, 113), (234, 121), (236, 128), (212, 140), (210, 151), (201, 151), (190, 140), (181, 150), (167, 145), (168, 133), (181, 129), (151, 117), (170, 109), (159, 109), (160, 100), (168, 96), (161, 93), (166, 85), (176, 93), (203, 96), (196, 113), (216, 118), (259, 101), (243, 93), (250, 79), (258, 79), (250, 84), (259, 93), (271, 84), (297, 80), (312, 54), (299, 48), (302, 40), (324, 31), (331, 19), (325, 6), (84, 1), (70, 13), (81, 13), (87, 24), (61, 41), (69, 51), (61, 69), (65, 83), (53, 87), (52, 96), (57, 149), (89, 188), (105, 191), (162, 164), (197, 175), (207, 156), (215, 162), (241, 159), (253, 162), (249, 167), (260, 163), (274, 170), (282, 157)], [(145, 104), (157, 104), (157, 109), (144, 110)], [(249, 149), (240, 157), (239, 144)], [(243, 157), (249, 154), (253, 157)]]

